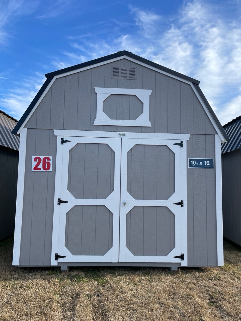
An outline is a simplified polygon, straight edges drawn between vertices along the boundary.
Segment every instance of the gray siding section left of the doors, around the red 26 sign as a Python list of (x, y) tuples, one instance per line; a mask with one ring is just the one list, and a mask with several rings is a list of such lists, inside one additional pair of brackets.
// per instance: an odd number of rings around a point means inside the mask
[[(20, 265), (49, 265), (57, 138), (52, 130), (28, 129), (26, 145)], [(35, 155), (53, 156), (52, 172), (32, 172), (31, 160)]]

